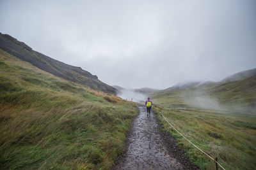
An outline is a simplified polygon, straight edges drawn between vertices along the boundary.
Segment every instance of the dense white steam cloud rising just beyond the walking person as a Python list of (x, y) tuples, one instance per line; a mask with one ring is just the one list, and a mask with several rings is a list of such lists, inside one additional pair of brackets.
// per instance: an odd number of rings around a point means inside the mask
[(125, 99), (127, 101), (143, 103), (147, 99), (147, 96), (145, 94), (140, 92), (135, 92), (132, 89), (122, 89), (119, 91), (120, 92), (116, 96), (121, 97), (122, 99)]

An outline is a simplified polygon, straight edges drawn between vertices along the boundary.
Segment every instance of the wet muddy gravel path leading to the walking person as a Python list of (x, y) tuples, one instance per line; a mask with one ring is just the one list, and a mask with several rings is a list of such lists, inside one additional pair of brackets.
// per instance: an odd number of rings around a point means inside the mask
[[(116, 160), (116, 166), (113, 169), (198, 169), (196, 166), (189, 166), (180, 160), (188, 159), (184, 152), (176, 146), (173, 139), (170, 139), (173, 148), (170, 148), (170, 142), (166, 143), (166, 136), (160, 132), (159, 124), (154, 113), (147, 117), (146, 108), (138, 106), (140, 114), (134, 120), (133, 126), (129, 131), (126, 142), (126, 151)], [(172, 138), (172, 136), (170, 136)], [(168, 138), (169, 140), (169, 138)], [(181, 157), (180, 157), (181, 155)], [(188, 161), (188, 160), (186, 160)], [(183, 164), (184, 165), (183, 165)]]

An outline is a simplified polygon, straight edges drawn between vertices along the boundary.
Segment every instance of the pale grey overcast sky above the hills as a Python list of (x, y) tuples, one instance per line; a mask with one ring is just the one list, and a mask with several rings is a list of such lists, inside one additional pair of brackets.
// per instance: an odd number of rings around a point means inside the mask
[(255, 0), (0, 0), (0, 32), (125, 88), (256, 67)]

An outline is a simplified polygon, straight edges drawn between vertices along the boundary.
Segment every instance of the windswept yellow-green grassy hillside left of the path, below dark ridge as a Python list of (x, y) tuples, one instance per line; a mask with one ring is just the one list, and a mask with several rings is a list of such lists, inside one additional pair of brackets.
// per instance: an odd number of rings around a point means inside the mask
[(0, 169), (108, 169), (137, 113), (0, 49)]

